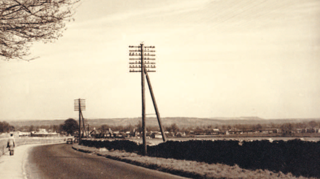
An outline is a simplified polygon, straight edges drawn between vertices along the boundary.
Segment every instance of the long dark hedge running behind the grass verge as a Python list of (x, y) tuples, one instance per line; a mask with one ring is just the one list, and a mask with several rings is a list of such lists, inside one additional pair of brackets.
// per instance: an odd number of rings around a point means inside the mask
[[(142, 145), (130, 140), (82, 140), (84, 146), (118, 149), (141, 153)], [(320, 178), (320, 141), (299, 139), (289, 141), (188, 140), (167, 141), (148, 146), (152, 157), (205, 162), (208, 164), (237, 164), (245, 169), (268, 169), (292, 173), (295, 176)]]

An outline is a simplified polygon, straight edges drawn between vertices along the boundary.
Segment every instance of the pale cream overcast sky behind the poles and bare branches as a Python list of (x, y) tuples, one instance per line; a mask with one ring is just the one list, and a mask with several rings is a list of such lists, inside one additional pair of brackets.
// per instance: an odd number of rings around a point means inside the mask
[[(141, 117), (129, 45), (153, 45), (162, 117), (320, 118), (320, 0), (83, 0), (32, 61), (0, 60), (0, 120)], [(146, 88), (148, 89), (148, 88)], [(146, 90), (147, 114), (154, 114)]]

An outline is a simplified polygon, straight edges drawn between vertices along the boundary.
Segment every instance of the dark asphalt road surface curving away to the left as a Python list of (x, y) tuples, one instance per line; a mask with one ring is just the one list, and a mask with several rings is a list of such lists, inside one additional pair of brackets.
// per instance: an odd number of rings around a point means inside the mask
[(186, 179), (114, 161), (55, 144), (34, 147), (26, 163), (28, 179)]

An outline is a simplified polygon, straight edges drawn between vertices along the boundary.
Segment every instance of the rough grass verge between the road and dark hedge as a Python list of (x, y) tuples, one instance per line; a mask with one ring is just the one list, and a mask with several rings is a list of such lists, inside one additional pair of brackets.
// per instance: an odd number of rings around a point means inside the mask
[(315, 179), (302, 176), (297, 178), (291, 173), (284, 174), (262, 169), (242, 169), (238, 165), (207, 164), (196, 161), (148, 157), (125, 150), (97, 149), (78, 144), (73, 145), (73, 149), (193, 179)]

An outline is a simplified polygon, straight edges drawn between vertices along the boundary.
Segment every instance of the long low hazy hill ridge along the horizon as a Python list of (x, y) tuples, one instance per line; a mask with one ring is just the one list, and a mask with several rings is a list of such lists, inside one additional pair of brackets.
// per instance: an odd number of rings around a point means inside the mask
[[(76, 119), (78, 120), (78, 119)], [(103, 124), (107, 125), (136, 125), (141, 118), (117, 118), (117, 119), (85, 119), (90, 126), (99, 127)], [(164, 126), (169, 126), (173, 123), (179, 127), (193, 127), (193, 126), (208, 126), (212, 125), (235, 125), (235, 124), (269, 124), (269, 123), (298, 123), (303, 121), (320, 120), (318, 119), (262, 119), (258, 117), (239, 117), (239, 118), (185, 118), (185, 117), (169, 117), (161, 118)], [(41, 126), (41, 125), (60, 125), (65, 120), (21, 120), (21, 121), (8, 121), (13, 126)], [(156, 118), (147, 118), (147, 126), (157, 126), (158, 121)]]

